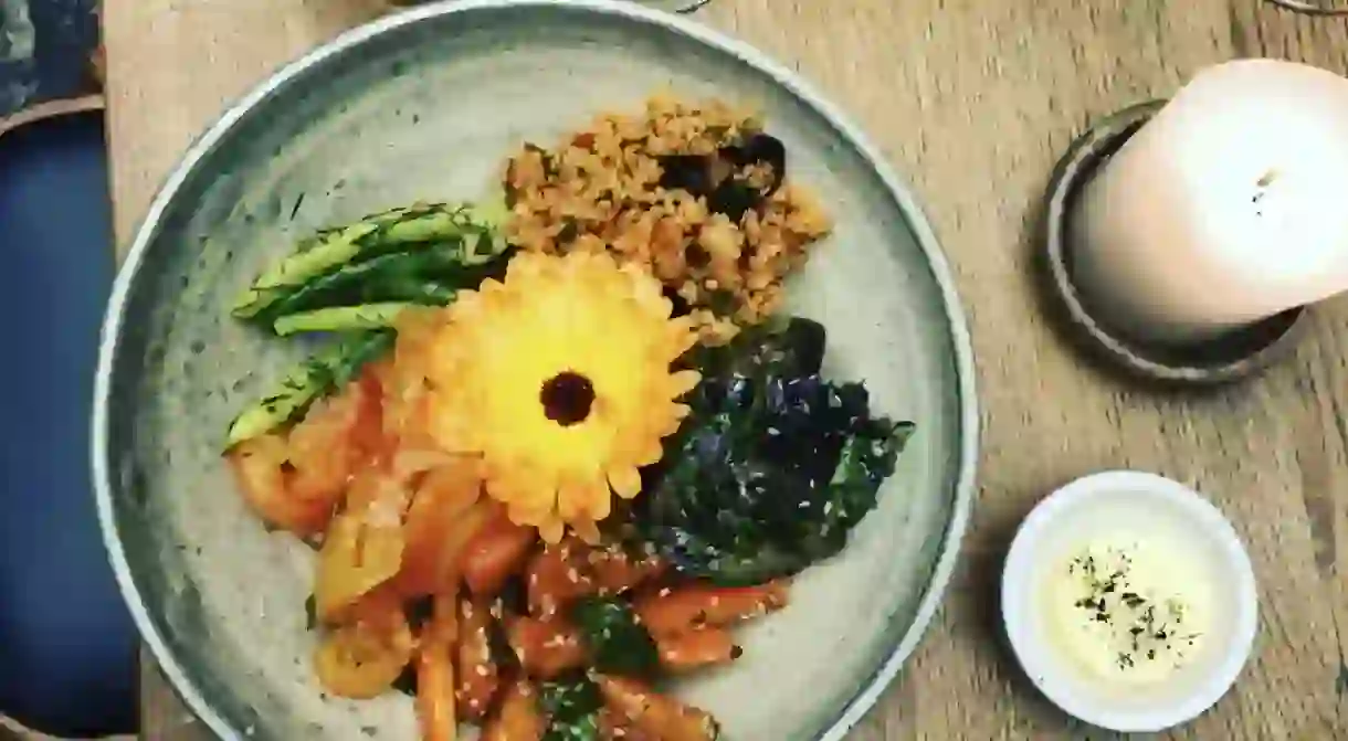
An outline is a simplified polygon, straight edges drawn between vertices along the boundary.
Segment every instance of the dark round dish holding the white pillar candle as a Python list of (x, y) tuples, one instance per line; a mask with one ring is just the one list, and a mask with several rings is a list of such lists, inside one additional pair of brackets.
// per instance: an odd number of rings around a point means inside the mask
[(1038, 241), (1049, 298), (1062, 310), (1072, 338), (1112, 366), (1167, 385), (1217, 385), (1263, 370), (1289, 354), (1305, 331), (1304, 309), (1283, 311), (1217, 340), (1186, 346), (1132, 340), (1096, 315), (1072, 275), (1070, 233), (1081, 189), (1165, 101), (1126, 108), (1081, 135), (1058, 162), (1045, 198), (1047, 213)]

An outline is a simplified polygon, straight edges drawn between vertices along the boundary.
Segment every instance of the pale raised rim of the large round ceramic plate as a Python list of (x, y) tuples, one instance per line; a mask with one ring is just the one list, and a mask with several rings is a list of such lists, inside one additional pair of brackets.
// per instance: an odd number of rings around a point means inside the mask
[(824, 98), (814, 86), (802, 77), (775, 62), (766, 53), (747, 42), (741, 42), (683, 16), (643, 7), (624, 0), (446, 0), (429, 3), (411, 9), (392, 12), (365, 24), (350, 28), (338, 36), (318, 44), (299, 58), (283, 65), (266, 79), (260, 81), (241, 97), (233, 100), (225, 110), (187, 147), (155, 193), (144, 217), (136, 226), (127, 257), (117, 271), (108, 310), (100, 329), (98, 362), (94, 377), (94, 404), (92, 415), (90, 462), (93, 468), (94, 501), (104, 547), (113, 567), (117, 586), (132, 614), (142, 640), (168, 679), (170, 686), (185, 705), (208, 729), (222, 740), (243, 740), (240, 729), (226, 721), (209, 702), (198, 683), (187, 676), (186, 670), (168, 648), (167, 640), (156, 628), (140, 586), (131, 573), (127, 552), (123, 547), (117, 517), (112, 504), (112, 478), (108, 450), (108, 406), (111, 397), (112, 372), (117, 356), (117, 345), (123, 329), (123, 311), (132, 284), (140, 273), (150, 245), (163, 225), (168, 206), (195, 167), (239, 127), (255, 108), (267, 101), (279, 89), (329, 61), (341, 57), (384, 34), (398, 31), (438, 18), (460, 13), (474, 13), (519, 7), (561, 7), (588, 11), (600, 15), (619, 16), (627, 20), (661, 27), (669, 32), (687, 36), (706, 47), (728, 54), (767, 75), (772, 82), (787, 90), (797, 100), (824, 116), (861, 154), (871, 168), (879, 175), (891, 198), (903, 212), (907, 226), (922, 249), (927, 269), (941, 294), (941, 304), (946, 318), (954, 354), (954, 370), (960, 395), (960, 462), (954, 485), (950, 520), (941, 539), (941, 552), (931, 569), (930, 578), (922, 590), (913, 624), (888, 652), (875, 672), (863, 682), (861, 688), (837, 713), (830, 725), (821, 733), (820, 741), (840, 741), (879, 702), (880, 697), (898, 676), (909, 656), (926, 635), (954, 574), (964, 534), (968, 529), (973, 509), (975, 478), (979, 463), (980, 418), (976, 393), (976, 373), (973, 365), (973, 344), (968, 321), (956, 288), (953, 272), (945, 252), (907, 182), (898, 176), (888, 160), (869, 137), (853, 124), (837, 106)]

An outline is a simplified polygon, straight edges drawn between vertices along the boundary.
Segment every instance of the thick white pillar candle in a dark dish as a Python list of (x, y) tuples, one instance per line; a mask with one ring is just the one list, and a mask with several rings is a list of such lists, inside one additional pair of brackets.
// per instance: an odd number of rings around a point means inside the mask
[(1198, 342), (1348, 290), (1348, 79), (1201, 71), (1082, 189), (1074, 279), (1120, 331)]

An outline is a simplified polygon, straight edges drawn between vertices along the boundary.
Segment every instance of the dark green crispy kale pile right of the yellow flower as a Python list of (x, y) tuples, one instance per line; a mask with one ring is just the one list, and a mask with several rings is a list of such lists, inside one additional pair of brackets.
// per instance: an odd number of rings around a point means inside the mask
[(790, 319), (692, 357), (693, 412), (643, 472), (634, 516), (681, 571), (727, 585), (795, 574), (847, 546), (914, 431), (861, 384), (820, 376), (824, 327)]

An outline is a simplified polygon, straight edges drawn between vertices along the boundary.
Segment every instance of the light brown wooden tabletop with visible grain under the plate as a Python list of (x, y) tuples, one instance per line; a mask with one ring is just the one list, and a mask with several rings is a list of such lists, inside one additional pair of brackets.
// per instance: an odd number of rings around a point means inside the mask
[[(189, 140), (278, 63), (375, 0), (108, 0), (116, 222), (125, 243)], [(973, 325), (981, 493), (945, 609), (855, 737), (1092, 738), (1016, 675), (993, 594), (1016, 523), (1054, 486), (1135, 468), (1192, 482), (1235, 521), (1260, 578), (1258, 653), (1186, 738), (1348, 738), (1348, 304), (1295, 358), (1206, 396), (1082, 366), (1031, 291), (1049, 171), (1093, 117), (1170, 94), (1202, 65), (1285, 57), (1348, 69), (1348, 24), (1258, 0), (716, 0), (697, 19), (820, 84), (925, 201)], [(187, 740), (146, 672), (144, 736)]]

